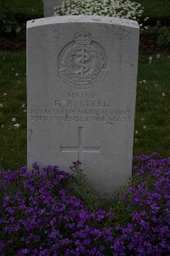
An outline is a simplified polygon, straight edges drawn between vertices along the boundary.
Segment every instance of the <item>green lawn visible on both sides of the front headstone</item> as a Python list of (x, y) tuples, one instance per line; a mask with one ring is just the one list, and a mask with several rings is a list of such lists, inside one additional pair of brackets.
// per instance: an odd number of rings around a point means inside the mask
[[(148, 58), (139, 56), (133, 154), (159, 152), (166, 157), (170, 155), (170, 59), (155, 55), (150, 64)], [(0, 52), (0, 78), (0, 164), (14, 169), (26, 164), (26, 53)]]

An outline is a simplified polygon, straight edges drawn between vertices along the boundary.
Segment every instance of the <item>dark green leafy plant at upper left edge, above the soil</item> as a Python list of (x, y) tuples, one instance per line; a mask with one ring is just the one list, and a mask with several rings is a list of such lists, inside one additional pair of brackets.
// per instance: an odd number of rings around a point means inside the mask
[(20, 32), (18, 21), (14, 18), (14, 14), (10, 9), (0, 5), (0, 32)]

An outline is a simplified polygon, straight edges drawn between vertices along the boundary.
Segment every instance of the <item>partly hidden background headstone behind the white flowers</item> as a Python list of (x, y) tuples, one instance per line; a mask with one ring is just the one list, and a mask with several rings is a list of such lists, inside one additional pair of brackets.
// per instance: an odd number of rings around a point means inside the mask
[(54, 16), (54, 7), (61, 5), (63, 0), (43, 0), (44, 17)]

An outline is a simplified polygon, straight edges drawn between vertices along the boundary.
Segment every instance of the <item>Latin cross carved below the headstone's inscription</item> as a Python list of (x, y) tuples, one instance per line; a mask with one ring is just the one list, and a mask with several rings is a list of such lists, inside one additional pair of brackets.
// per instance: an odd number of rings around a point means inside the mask
[(83, 152), (92, 152), (92, 153), (99, 153), (99, 147), (84, 147), (83, 146), (83, 138), (84, 138), (84, 128), (78, 128), (78, 146), (77, 147), (63, 147), (60, 146), (60, 152), (71, 153), (77, 152), (78, 153), (78, 160), (82, 162), (82, 154)]

